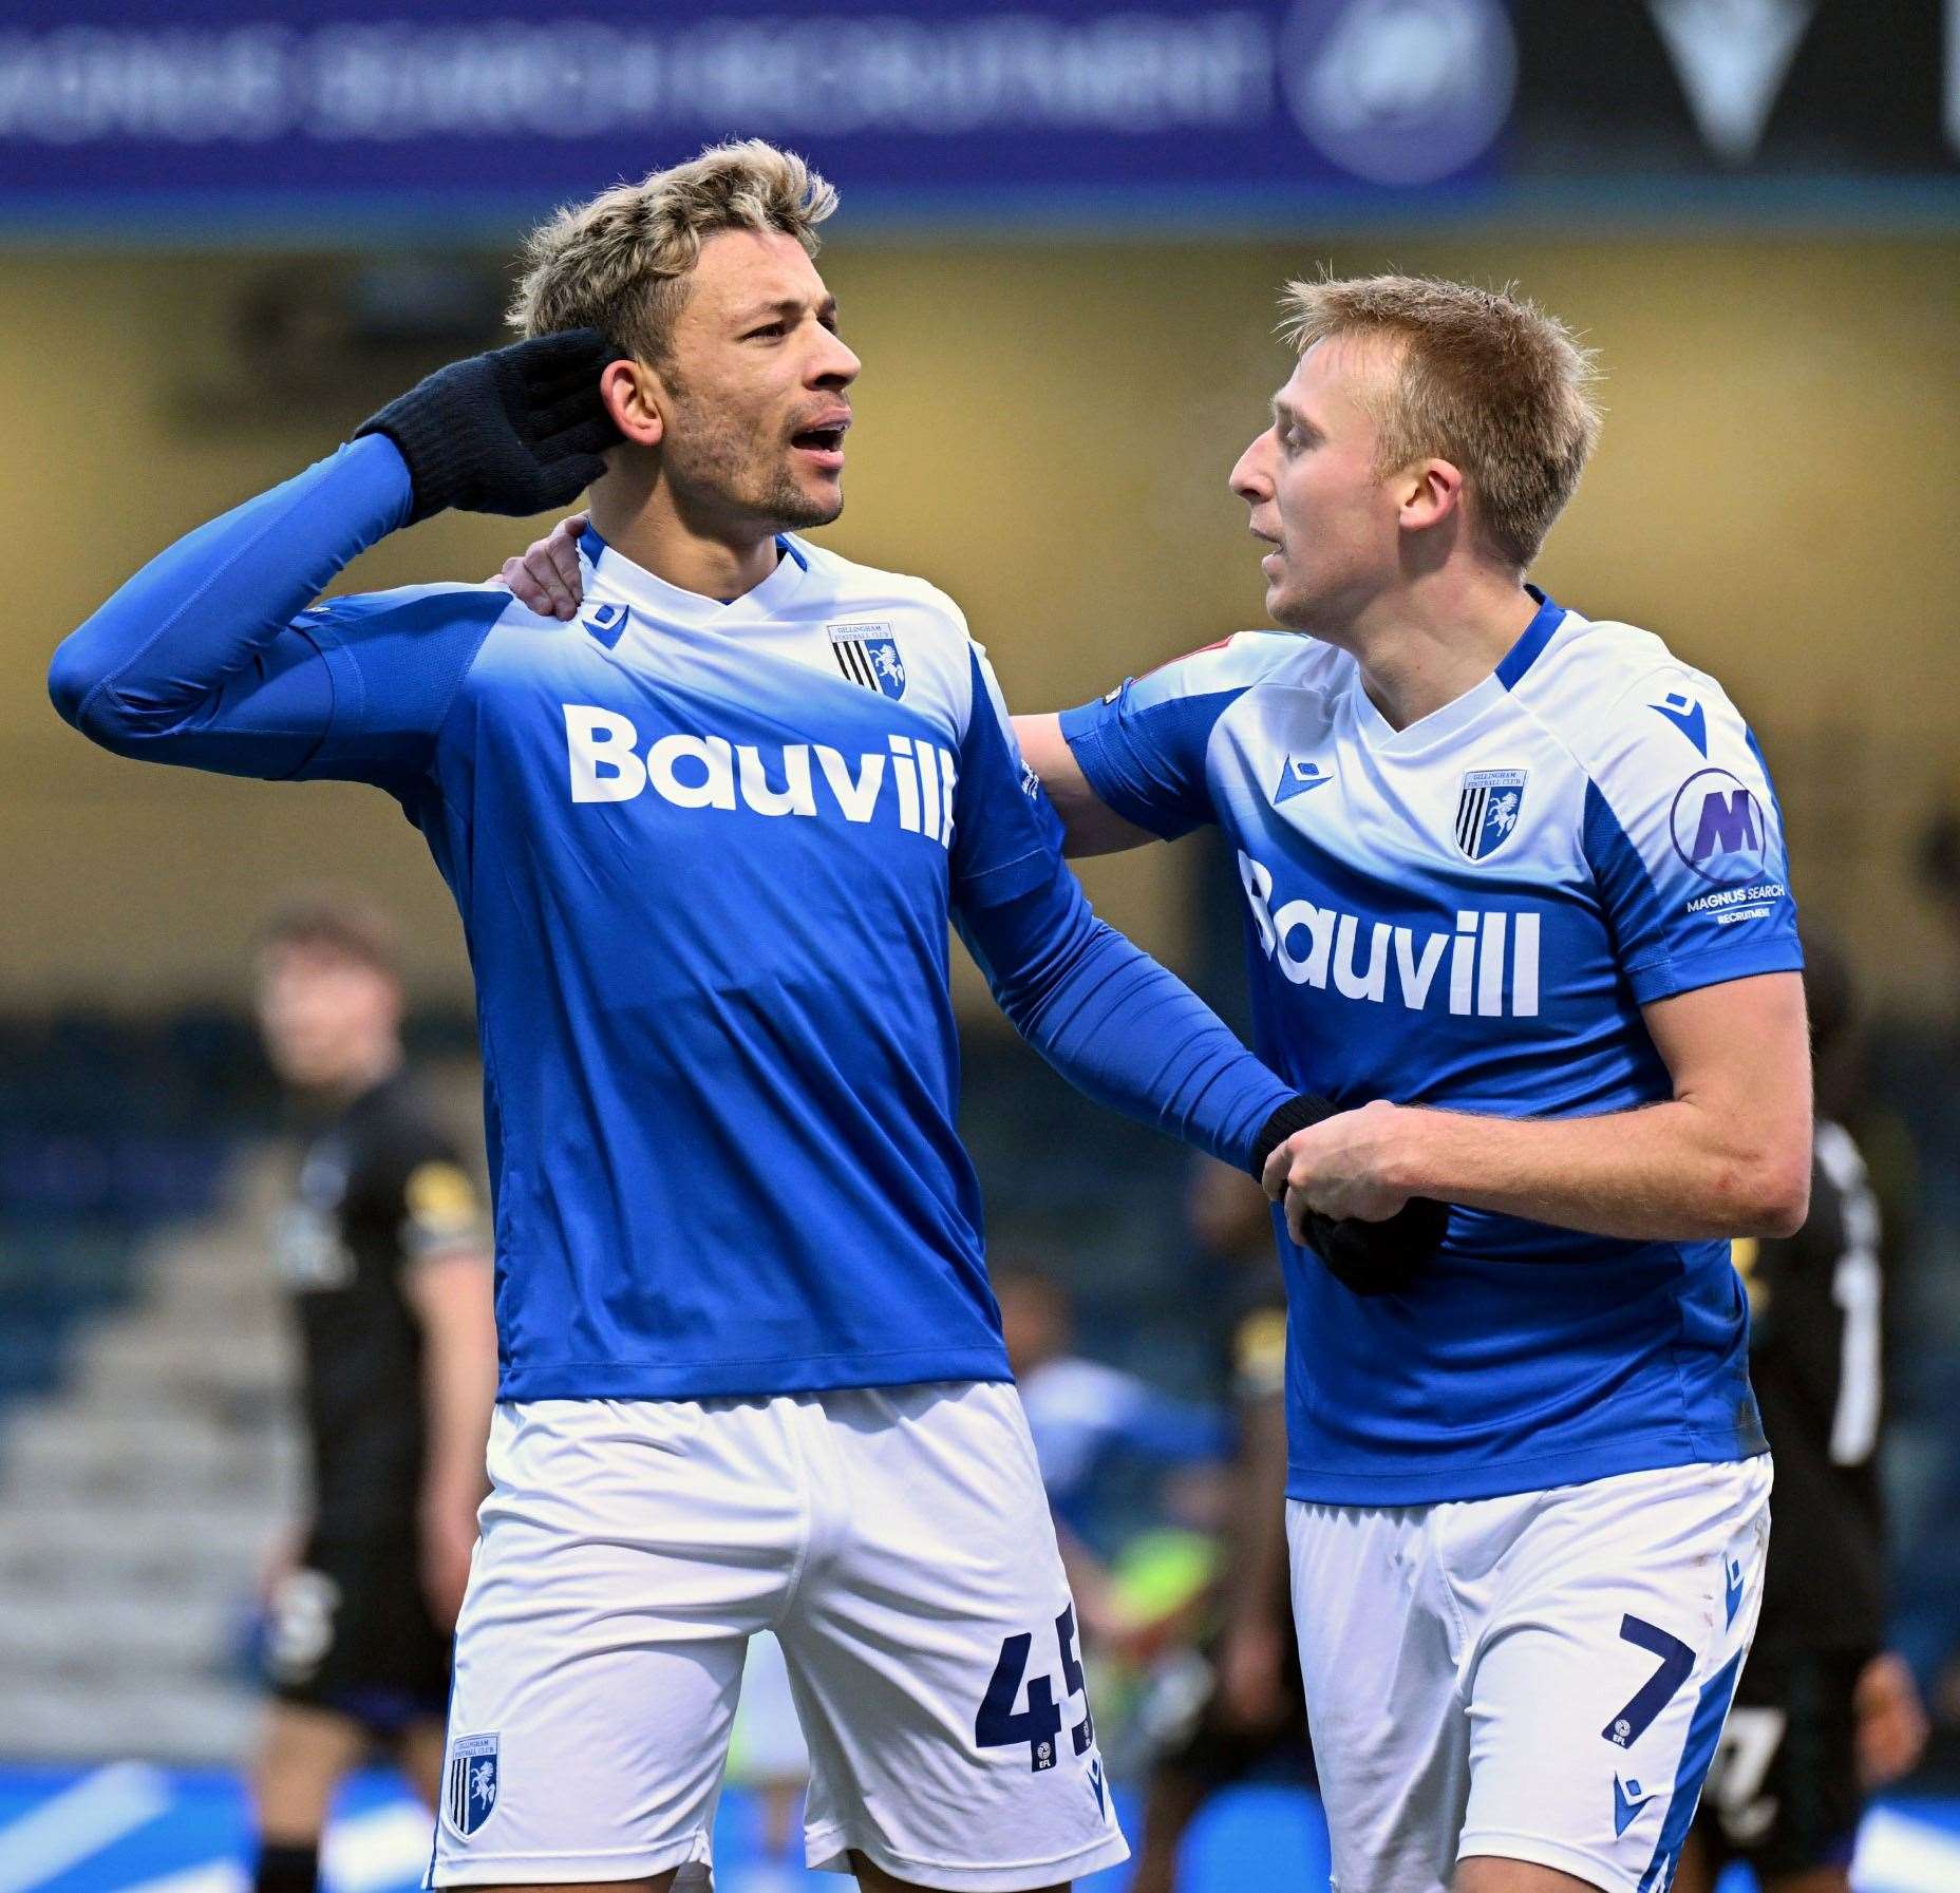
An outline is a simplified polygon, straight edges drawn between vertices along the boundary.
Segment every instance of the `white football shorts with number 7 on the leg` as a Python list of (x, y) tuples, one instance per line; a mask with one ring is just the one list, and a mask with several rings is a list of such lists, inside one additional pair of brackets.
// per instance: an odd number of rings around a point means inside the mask
[(1290, 1499), (1335, 1893), (1474, 1854), (1666, 1893), (1756, 1634), (1770, 1460), (1503, 1499)]

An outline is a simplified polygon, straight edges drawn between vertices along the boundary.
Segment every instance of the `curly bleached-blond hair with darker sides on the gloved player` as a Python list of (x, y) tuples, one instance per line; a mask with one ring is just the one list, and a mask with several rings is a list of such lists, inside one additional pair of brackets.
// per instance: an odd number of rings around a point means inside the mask
[(759, 137), (710, 145), (686, 165), (566, 204), (533, 229), (510, 325), (519, 335), (592, 327), (664, 363), (706, 237), (780, 229), (813, 257), (817, 225), (835, 208), (837, 190), (794, 151)]

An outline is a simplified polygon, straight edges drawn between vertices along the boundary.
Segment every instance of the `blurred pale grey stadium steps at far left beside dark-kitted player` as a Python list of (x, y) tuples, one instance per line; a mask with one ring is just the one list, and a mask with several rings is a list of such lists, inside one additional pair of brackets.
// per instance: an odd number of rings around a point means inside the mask
[(22, 1760), (204, 1764), (251, 1736), (239, 1644), (302, 1497), (265, 1246), (280, 1180), (247, 1154), (216, 1217), (159, 1231), (139, 1299), (0, 1425), (0, 1730)]

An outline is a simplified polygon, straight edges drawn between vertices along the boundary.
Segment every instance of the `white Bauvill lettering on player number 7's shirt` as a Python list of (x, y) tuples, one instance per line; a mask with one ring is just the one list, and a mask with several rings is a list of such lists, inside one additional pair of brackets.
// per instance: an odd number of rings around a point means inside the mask
[[(1239, 878), (1252, 925), (1284, 978), (1347, 999), (1427, 1011), (1443, 997), (1452, 1013), (1480, 1019), (1539, 1015), (1539, 915), (1531, 909), (1466, 907), (1450, 933), (1419, 933), (1319, 907), (1309, 899), (1272, 905), (1272, 868), (1239, 852)], [(1366, 954), (1362, 952), (1366, 937)]]

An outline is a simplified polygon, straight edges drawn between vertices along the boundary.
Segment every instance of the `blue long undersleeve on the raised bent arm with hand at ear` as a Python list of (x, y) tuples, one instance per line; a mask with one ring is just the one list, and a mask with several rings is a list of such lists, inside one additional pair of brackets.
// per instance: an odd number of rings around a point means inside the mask
[(335, 723), (333, 637), (325, 613), (294, 619), (408, 510), (408, 466), (370, 435), (198, 527), (61, 643), (55, 707), (118, 754), (310, 772)]

